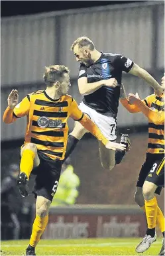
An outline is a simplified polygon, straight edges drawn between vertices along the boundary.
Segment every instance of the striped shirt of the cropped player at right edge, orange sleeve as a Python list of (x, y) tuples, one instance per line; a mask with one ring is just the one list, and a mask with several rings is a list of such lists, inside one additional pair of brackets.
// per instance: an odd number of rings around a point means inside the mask
[[(140, 108), (133, 104), (129, 104), (128, 99), (120, 100), (122, 105), (127, 108), (131, 113), (137, 113), (140, 111)], [(158, 97), (155, 94), (152, 94), (142, 102), (149, 107), (152, 111), (160, 113), (162, 118), (159, 120), (150, 120), (148, 118), (148, 150), (147, 153), (151, 154), (163, 154), (164, 151), (164, 95)]]

